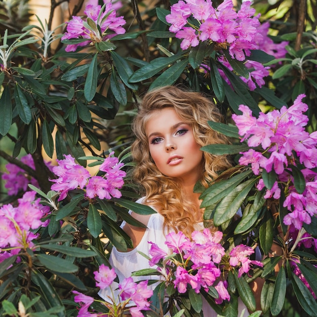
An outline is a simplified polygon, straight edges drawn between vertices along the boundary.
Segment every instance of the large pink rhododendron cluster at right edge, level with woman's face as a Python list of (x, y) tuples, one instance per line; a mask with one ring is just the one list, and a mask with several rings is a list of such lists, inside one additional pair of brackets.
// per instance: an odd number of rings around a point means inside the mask
[[(242, 115), (232, 115), (242, 136), (241, 142), (247, 140), (252, 147), (241, 153), (239, 163), (250, 164), (255, 175), (262, 170), (275, 172), (276, 181), (267, 188), (264, 197), (279, 199), (283, 190), (286, 195), (283, 206), (289, 210), (284, 223), (293, 224), (296, 229), (303, 223), (309, 224), (311, 217), (317, 215), (317, 174), (312, 170), (317, 166), (317, 132), (305, 131), (308, 117), (304, 112), (308, 106), (302, 102), (304, 97), (299, 95), (289, 108), (283, 106), (281, 110), (261, 112), (258, 118), (245, 105), (239, 107)], [(305, 180), (303, 192), (295, 187), (292, 169), (301, 173)], [(261, 178), (257, 188), (264, 187)]]

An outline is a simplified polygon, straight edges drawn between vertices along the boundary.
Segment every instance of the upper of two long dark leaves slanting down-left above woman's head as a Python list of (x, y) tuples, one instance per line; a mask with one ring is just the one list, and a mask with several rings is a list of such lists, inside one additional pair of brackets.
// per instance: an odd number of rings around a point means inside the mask
[(144, 81), (156, 73), (168, 67), (170, 64), (180, 59), (180, 55), (173, 55), (171, 57), (159, 57), (152, 60), (149, 64), (141, 67), (129, 78), (130, 83), (138, 83)]

